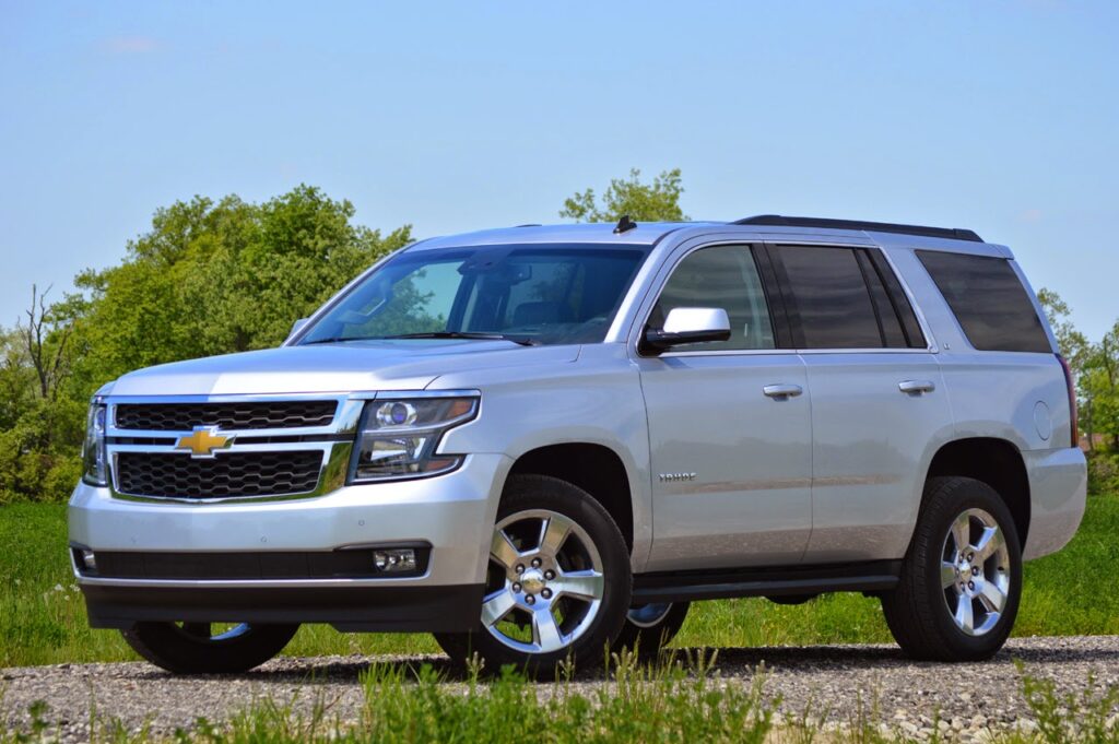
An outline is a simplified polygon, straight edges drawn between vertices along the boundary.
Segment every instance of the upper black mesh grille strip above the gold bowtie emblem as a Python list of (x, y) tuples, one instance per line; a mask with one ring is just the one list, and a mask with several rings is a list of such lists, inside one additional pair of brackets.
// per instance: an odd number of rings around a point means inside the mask
[(336, 401), (273, 401), (253, 403), (120, 403), (116, 427), (149, 432), (189, 432), (195, 426), (224, 430), (328, 426)]

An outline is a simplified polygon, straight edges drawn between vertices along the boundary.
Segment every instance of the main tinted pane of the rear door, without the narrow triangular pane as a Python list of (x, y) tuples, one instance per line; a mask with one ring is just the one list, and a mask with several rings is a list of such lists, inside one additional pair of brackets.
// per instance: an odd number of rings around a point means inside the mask
[(781, 246), (792, 304), (807, 349), (876, 349), (884, 346), (863, 269), (849, 248)]

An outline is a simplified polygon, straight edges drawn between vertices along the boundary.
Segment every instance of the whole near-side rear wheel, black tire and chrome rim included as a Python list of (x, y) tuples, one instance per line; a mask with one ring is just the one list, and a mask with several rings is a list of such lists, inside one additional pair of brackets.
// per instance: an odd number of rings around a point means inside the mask
[(1018, 533), (998, 492), (971, 478), (929, 479), (901, 582), (882, 596), (897, 644), (920, 660), (989, 659), (1021, 596)]

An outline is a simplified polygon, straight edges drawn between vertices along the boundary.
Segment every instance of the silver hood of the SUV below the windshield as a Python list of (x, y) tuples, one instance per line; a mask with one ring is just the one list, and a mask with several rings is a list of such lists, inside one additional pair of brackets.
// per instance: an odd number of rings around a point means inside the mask
[(110, 395), (273, 395), (423, 389), (440, 375), (574, 361), (577, 346), (511, 341), (350, 341), (245, 351), (148, 367), (117, 379)]

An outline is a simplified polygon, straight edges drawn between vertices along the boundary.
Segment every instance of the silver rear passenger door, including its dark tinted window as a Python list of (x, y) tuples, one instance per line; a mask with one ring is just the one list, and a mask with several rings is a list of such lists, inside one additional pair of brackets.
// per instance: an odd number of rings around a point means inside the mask
[(805, 563), (901, 557), (929, 461), (952, 427), (940, 367), (880, 248), (769, 251), (811, 392)]

